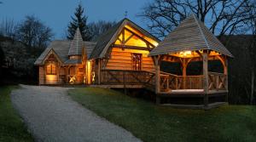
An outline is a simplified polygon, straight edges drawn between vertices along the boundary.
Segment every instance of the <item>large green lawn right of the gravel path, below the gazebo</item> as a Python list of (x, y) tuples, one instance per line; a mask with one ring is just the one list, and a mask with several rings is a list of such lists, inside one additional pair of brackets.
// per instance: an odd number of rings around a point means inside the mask
[(76, 88), (69, 95), (146, 142), (256, 139), (256, 106), (224, 105), (211, 111), (172, 109), (104, 88)]

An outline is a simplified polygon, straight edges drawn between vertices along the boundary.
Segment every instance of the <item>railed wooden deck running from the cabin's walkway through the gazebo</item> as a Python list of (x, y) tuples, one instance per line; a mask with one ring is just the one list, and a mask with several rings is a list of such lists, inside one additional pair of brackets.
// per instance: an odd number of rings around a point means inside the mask
[[(227, 93), (226, 77), (222, 73), (208, 72), (207, 94)], [(155, 90), (153, 71), (102, 70), (100, 83), (91, 85), (102, 88), (147, 88)], [(204, 95), (202, 76), (177, 76), (160, 72), (160, 92), (158, 94), (198, 94)]]

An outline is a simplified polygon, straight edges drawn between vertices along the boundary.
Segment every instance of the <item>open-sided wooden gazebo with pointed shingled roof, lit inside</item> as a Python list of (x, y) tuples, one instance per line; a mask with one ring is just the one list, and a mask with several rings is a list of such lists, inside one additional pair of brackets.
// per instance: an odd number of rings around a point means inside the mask
[[(218, 41), (194, 14), (177, 26), (150, 54), (154, 57), (155, 93), (162, 97), (201, 97), (203, 107), (209, 108), (209, 98), (228, 97), (229, 50)], [(224, 71), (208, 71), (209, 60), (220, 60)], [(182, 76), (160, 71), (161, 61), (179, 62)], [(201, 61), (203, 71), (198, 76), (187, 76), (190, 62)], [(216, 104), (217, 102), (215, 102)]]

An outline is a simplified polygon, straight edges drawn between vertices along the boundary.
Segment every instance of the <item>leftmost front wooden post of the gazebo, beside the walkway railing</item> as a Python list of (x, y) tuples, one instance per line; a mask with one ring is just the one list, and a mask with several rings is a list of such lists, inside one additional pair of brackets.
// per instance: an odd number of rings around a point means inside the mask
[(160, 104), (160, 55), (154, 56), (156, 104)]

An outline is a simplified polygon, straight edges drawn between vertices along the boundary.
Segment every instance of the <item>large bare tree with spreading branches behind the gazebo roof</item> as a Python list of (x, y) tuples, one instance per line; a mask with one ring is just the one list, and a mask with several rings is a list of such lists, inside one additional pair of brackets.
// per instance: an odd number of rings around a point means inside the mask
[(189, 14), (205, 22), (213, 34), (230, 35), (252, 18), (253, 0), (154, 0), (142, 16), (156, 37), (165, 37)]

